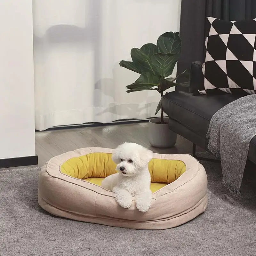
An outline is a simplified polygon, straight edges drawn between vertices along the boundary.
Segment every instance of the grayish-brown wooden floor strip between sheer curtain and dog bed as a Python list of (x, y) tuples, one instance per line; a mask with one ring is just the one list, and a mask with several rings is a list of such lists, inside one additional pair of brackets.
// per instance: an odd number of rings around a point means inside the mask
[(77, 148), (116, 148), (123, 142), (138, 143), (150, 148), (155, 153), (182, 154), (192, 152), (192, 143), (181, 136), (177, 137), (177, 143), (172, 148), (150, 147), (147, 127), (148, 123), (137, 123), (36, 132), (38, 165), (42, 166), (53, 156)]

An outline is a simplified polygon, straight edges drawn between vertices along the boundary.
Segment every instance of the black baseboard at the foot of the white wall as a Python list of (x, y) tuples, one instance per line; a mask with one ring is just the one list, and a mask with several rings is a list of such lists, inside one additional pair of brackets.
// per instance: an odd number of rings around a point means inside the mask
[(37, 155), (0, 159), (0, 168), (9, 168), (9, 167), (36, 165), (36, 164), (38, 164)]

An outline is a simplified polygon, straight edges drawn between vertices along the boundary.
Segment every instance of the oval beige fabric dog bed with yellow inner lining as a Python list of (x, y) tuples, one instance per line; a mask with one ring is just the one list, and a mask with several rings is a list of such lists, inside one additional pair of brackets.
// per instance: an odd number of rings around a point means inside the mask
[(100, 186), (116, 173), (113, 149), (82, 148), (53, 157), (39, 175), (38, 203), (53, 215), (78, 221), (135, 229), (166, 229), (194, 219), (207, 207), (207, 176), (190, 155), (154, 153), (152, 204), (139, 212), (119, 206), (112, 191)]

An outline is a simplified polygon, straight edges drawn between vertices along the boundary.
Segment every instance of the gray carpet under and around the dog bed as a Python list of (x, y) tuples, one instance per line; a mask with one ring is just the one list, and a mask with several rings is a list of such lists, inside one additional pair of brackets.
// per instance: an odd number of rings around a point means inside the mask
[(180, 227), (159, 231), (54, 217), (37, 203), (39, 168), (0, 171), (0, 255), (255, 255), (254, 166), (245, 171), (245, 198), (236, 200), (221, 185), (220, 164), (201, 162), (209, 182), (206, 212)]

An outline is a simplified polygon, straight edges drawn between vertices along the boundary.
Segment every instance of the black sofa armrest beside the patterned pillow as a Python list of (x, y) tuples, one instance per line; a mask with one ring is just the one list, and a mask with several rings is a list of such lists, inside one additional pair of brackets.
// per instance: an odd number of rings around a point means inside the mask
[(198, 90), (204, 88), (204, 75), (202, 71), (202, 63), (200, 61), (195, 61), (191, 63), (190, 66), (190, 83), (189, 91), (194, 95), (198, 95)]

